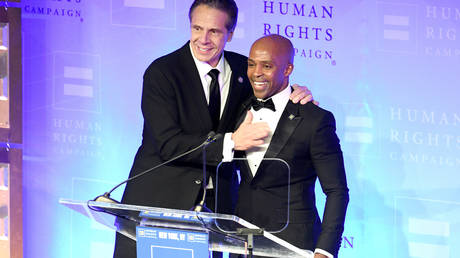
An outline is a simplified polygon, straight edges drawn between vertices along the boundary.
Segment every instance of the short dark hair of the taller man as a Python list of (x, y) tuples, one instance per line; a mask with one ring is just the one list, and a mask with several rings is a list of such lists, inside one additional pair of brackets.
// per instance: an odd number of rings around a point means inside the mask
[(225, 12), (230, 18), (225, 27), (229, 32), (234, 31), (238, 19), (238, 7), (234, 0), (195, 0), (188, 12), (188, 18), (192, 21), (192, 12), (196, 7), (206, 5), (208, 7)]

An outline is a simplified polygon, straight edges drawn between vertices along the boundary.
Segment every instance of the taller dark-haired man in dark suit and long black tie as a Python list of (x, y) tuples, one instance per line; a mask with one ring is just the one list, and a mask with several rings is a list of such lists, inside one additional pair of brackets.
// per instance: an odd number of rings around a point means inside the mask
[[(252, 96), (246, 76), (247, 57), (224, 51), (232, 38), (238, 9), (233, 0), (196, 0), (189, 17), (191, 39), (180, 49), (158, 58), (144, 74), (144, 129), (129, 177), (152, 168), (204, 142), (211, 131), (235, 126), (236, 111)], [(301, 89), (293, 101), (311, 100)], [(268, 134), (251, 126), (253, 137)], [(222, 139), (207, 147), (206, 164), (213, 177), (222, 158)], [(203, 199), (202, 153), (195, 151), (129, 181), (122, 203), (188, 210)], [(228, 191), (231, 190), (228, 180)], [(225, 185), (225, 184), (224, 184)], [(208, 187), (211, 187), (208, 185)], [(213, 191), (206, 191), (208, 207)], [(232, 201), (217, 212), (231, 212)], [(136, 257), (135, 242), (117, 234), (114, 257)]]

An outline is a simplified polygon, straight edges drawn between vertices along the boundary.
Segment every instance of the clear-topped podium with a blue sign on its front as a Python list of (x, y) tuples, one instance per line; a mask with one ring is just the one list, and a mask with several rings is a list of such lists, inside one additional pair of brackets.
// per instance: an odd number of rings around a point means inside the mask
[[(137, 241), (138, 257), (140, 258), (156, 258), (157, 256), (153, 255), (152, 245), (147, 244), (143, 247), (139, 243), (145, 238), (161, 240), (162, 236), (165, 238), (172, 236), (176, 242), (183, 240), (183, 243), (180, 244), (185, 245), (189, 239), (193, 239), (192, 242), (195, 244), (202, 244), (203, 241), (207, 241), (205, 243), (208, 248), (207, 251), (236, 254), (247, 253), (249, 239), (250, 242), (253, 242), (253, 254), (257, 256), (313, 257), (311, 251), (297, 248), (233, 215), (69, 199), (60, 199), (59, 202), (91, 220)], [(260, 234), (248, 236), (229, 233), (236, 231), (236, 229), (238, 232), (260, 232)], [(185, 233), (182, 235), (182, 233), (177, 232)], [(139, 248), (149, 249), (139, 250)], [(197, 254), (195, 252), (194, 256), (189, 257), (203, 257)], [(204, 257), (208, 257), (208, 255)]]

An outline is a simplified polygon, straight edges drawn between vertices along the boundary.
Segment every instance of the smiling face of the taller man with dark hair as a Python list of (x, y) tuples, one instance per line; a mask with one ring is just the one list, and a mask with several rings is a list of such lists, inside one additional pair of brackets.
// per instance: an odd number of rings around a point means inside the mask
[(233, 31), (226, 28), (228, 15), (218, 9), (199, 5), (190, 20), (191, 46), (194, 56), (215, 67), (224, 51), (225, 44), (232, 39)]

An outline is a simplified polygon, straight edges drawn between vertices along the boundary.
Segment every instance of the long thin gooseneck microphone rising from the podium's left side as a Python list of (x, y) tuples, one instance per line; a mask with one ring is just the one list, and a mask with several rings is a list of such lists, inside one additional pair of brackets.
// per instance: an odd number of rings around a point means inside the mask
[[(110, 198), (110, 194), (113, 191), (115, 191), (118, 187), (120, 187), (121, 185), (126, 184), (129, 181), (134, 180), (136, 178), (139, 178), (139, 177), (141, 177), (141, 176), (143, 176), (143, 175), (145, 175), (145, 174), (147, 174), (149, 172), (152, 172), (152, 171), (154, 171), (155, 169), (157, 169), (159, 167), (162, 167), (162, 166), (164, 166), (164, 165), (166, 165), (168, 163), (171, 163), (171, 162), (175, 161), (176, 159), (182, 158), (183, 156), (188, 155), (188, 154), (200, 149), (201, 147), (206, 148), (206, 146), (208, 146), (209, 144), (215, 142), (216, 140), (218, 140), (220, 138), (222, 138), (222, 134), (216, 134), (214, 131), (211, 131), (211, 132), (208, 133), (208, 136), (206, 137), (206, 140), (204, 142), (202, 142), (200, 145), (198, 145), (197, 147), (195, 147), (195, 148), (193, 148), (191, 150), (188, 150), (188, 151), (186, 151), (186, 152), (184, 152), (182, 154), (179, 154), (176, 157), (173, 157), (173, 158), (171, 158), (171, 159), (169, 159), (169, 160), (167, 160), (167, 161), (165, 161), (165, 162), (163, 162), (161, 164), (158, 164), (158, 165), (156, 165), (156, 166), (154, 166), (152, 168), (146, 169), (146, 170), (142, 171), (141, 173), (122, 181), (121, 183), (119, 183), (118, 185), (113, 187), (110, 191), (104, 193), (103, 195), (99, 195), (96, 198), (94, 198), (93, 201), (95, 201), (95, 202), (108, 202), (108, 203), (120, 203), (119, 201)], [(206, 166), (206, 165), (204, 165), (204, 166)]]

